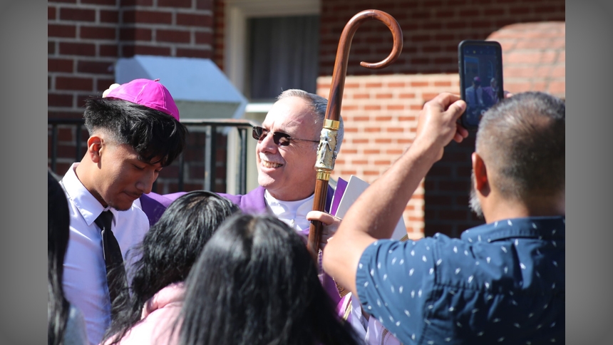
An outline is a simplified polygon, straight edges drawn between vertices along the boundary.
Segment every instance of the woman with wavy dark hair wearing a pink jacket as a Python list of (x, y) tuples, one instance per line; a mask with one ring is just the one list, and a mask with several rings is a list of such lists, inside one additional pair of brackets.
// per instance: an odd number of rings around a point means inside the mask
[(119, 299), (117, 317), (104, 344), (175, 344), (175, 320), (183, 301), (183, 282), (202, 248), (237, 205), (213, 192), (177, 198), (131, 254), (138, 257), (130, 293)]

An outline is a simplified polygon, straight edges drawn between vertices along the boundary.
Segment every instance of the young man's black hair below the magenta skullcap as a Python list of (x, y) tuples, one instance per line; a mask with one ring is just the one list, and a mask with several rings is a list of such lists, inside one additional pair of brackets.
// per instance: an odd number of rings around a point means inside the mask
[(187, 128), (159, 110), (116, 98), (91, 98), (83, 114), (90, 135), (105, 130), (146, 163), (170, 165), (185, 147)]

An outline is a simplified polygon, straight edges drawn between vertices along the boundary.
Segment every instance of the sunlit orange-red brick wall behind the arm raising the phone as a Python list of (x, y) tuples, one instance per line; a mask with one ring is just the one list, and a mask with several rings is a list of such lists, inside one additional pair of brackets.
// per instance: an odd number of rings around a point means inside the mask
[[(327, 98), (330, 83), (331, 77), (319, 77), (317, 93)], [(348, 76), (341, 108), (345, 135), (332, 176), (376, 180), (413, 142), (423, 103), (444, 91), (457, 93), (458, 88), (457, 74)], [(468, 199), (463, 199), (468, 187), (462, 184), (470, 183), (472, 145), (452, 145), (408, 202), (403, 217), (412, 238), (428, 235), (431, 229), (450, 233), (437, 219), (448, 217), (449, 212), (463, 212), (463, 219), (470, 219)], [(465, 166), (468, 170), (460, 168)], [(449, 192), (457, 197), (437, 200)]]

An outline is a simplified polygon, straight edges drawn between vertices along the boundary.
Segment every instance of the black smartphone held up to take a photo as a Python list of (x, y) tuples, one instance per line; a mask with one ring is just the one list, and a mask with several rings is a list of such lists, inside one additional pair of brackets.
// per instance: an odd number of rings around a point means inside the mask
[(465, 128), (476, 128), (483, 113), (504, 98), (503, 48), (496, 41), (465, 40), (458, 45), (460, 96)]

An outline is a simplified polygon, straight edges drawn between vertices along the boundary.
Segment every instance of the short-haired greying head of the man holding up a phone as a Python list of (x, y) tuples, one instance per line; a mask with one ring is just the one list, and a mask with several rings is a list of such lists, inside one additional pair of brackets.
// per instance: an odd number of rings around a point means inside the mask
[(560, 98), (526, 92), (483, 115), (476, 150), (496, 175), (503, 197), (527, 200), (565, 190), (565, 113)]

